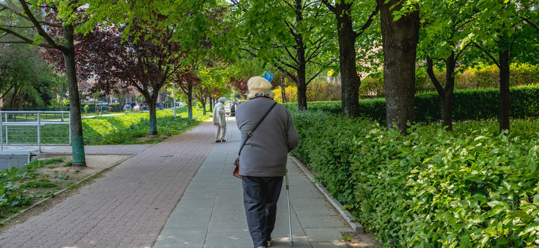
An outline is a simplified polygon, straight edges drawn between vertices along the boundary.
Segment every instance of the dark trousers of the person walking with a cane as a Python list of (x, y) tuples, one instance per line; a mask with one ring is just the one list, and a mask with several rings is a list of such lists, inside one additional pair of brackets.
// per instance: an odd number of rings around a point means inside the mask
[(243, 205), (254, 247), (267, 247), (275, 227), (282, 176), (243, 176)]

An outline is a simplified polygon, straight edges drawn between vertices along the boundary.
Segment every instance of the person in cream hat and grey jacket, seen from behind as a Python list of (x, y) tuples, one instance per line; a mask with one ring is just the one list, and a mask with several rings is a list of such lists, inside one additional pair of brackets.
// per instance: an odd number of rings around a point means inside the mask
[[(250, 135), (240, 154), (243, 205), (254, 247), (265, 248), (272, 242), (287, 154), (296, 148), (299, 136), (288, 110), (273, 100), (269, 81), (254, 76), (247, 81), (247, 87), (249, 101), (236, 107), (236, 124), (242, 141)], [(273, 109), (269, 110), (270, 107)]]

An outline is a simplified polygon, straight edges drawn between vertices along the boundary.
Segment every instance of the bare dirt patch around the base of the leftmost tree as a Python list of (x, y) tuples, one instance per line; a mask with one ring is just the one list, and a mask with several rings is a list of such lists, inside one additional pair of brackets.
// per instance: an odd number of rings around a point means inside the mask
[[(18, 223), (23, 223), (32, 216), (41, 214), (44, 211), (50, 209), (55, 204), (62, 202), (65, 198), (72, 194), (77, 194), (81, 187), (93, 183), (96, 178), (102, 176), (103, 173), (98, 174), (95, 177), (88, 178), (89, 176), (95, 175), (97, 172), (102, 171), (112, 165), (115, 165), (124, 158), (127, 158), (130, 155), (86, 155), (86, 165), (88, 167), (74, 167), (70, 166), (70, 162), (73, 161), (72, 156), (57, 156), (53, 158), (62, 158), (61, 162), (52, 163), (45, 165), (44, 167), (37, 168), (35, 173), (39, 175), (39, 178), (44, 179), (46, 183), (50, 183), (50, 188), (44, 187), (29, 187), (25, 194), (35, 194), (35, 195), (51, 195), (57, 192), (61, 192), (55, 195), (52, 198), (48, 198), (42, 203), (39, 203), (43, 198), (36, 198), (35, 203), (39, 205), (30, 207), (29, 209), (22, 210), (21, 214), (17, 216), (12, 216), (8, 221), (6, 219), (0, 220), (3, 225), (0, 226), (0, 233), (12, 225)], [(46, 158), (50, 159), (50, 158)], [(106, 172), (106, 171), (105, 171)], [(88, 178), (84, 180), (85, 178)], [(83, 183), (79, 183), (81, 180), (84, 180)], [(34, 180), (39, 183), (40, 180)], [(24, 182), (20, 182), (23, 184)], [(77, 185), (78, 183), (78, 185)], [(19, 183), (18, 183), (19, 184)], [(54, 186), (53, 186), (54, 185)], [(73, 185), (76, 185), (74, 187)], [(71, 186), (71, 187), (70, 187)], [(66, 189), (66, 190), (64, 190)], [(62, 190), (64, 190), (62, 192)], [(4, 222), (6, 221), (6, 222)]]

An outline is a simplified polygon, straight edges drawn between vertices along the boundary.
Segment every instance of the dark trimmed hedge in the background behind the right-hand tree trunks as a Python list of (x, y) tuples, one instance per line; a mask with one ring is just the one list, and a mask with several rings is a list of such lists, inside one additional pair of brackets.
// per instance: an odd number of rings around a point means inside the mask
[[(510, 90), (512, 118), (539, 117), (539, 85), (513, 87)], [(497, 89), (455, 90), (453, 92), (453, 121), (498, 118), (500, 91)], [(296, 103), (285, 103), (296, 109)], [(365, 99), (359, 101), (361, 114), (381, 124), (386, 122), (386, 100)], [(312, 102), (309, 110), (322, 110), (332, 114), (341, 113), (341, 102)], [(433, 122), (441, 118), (439, 96), (426, 92), (415, 96), (415, 119), (417, 122)]]

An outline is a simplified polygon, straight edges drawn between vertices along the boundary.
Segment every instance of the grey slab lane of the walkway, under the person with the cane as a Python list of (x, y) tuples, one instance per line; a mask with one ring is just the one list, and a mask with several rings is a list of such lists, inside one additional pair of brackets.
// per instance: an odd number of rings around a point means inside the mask
[[(229, 118), (229, 142), (216, 143), (211, 150), (172, 212), (155, 248), (252, 247), (241, 180), (232, 176), (232, 163), (241, 145), (234, 120)], [(352, 231), (350, 225), (290, 159), (287, 168), (293, 247), (346, 247), (341, 231)], [(284, 189), (277, 211), (272, 247), (290, 247)]]

